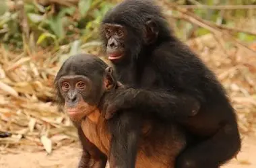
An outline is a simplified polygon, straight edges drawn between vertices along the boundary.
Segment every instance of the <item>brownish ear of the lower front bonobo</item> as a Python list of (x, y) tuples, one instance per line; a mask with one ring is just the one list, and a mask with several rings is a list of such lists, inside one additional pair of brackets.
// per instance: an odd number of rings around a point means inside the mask
[(113, 67), (106, 67), (105, 69), (105, 79), (104, 79), (104, 87), (106, 90), (113, 89), (117, 85), (117, 81), (114, 77)]

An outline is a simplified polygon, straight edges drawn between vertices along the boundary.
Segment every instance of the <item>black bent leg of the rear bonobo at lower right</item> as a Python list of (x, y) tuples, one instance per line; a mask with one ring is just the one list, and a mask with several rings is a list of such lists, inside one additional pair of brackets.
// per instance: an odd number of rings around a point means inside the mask
[(241, 149), (236, 124), (226, 124), (208, 140), (188, 147), (177, 159), (177, 168), (218, 168)]

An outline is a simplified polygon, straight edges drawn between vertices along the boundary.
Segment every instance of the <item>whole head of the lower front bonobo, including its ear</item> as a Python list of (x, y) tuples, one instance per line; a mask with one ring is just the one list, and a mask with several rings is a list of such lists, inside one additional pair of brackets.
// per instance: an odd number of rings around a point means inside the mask
[(95, 112), (102, 95), (116, 86), (112, 67), (90, 54), (65, 60), (55, 78), (57, 99), (74, 123)]

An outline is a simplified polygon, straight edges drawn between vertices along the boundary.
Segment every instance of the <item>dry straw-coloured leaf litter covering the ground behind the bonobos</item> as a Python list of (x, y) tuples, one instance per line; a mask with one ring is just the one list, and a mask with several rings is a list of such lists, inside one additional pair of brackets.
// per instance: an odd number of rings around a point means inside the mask
[[(224, 84), (238, 112), (241, 132), (253, 130), (256, 117), (256, 56), (239, 48), (223, 52), (212, 35), (189, 42)], [(251, 46), (253, 48), (253, 46)], [(256, 49), (256, 48), (255, 48)], [(98, 49), (86, 50), (98, 54)], [(77, 139), (71, 122), (54, 100), (53, 79), (59, 70), (58, 54), (10, 53), (0, 48), (1, 153), (52, 149)], [(28, 147), (30, 146), (30, 147)]]

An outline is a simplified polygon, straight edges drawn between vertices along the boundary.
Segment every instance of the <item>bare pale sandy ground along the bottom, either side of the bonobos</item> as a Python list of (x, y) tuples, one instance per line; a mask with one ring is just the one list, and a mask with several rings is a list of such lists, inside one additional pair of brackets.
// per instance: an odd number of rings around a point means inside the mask
[[(46, 152), (20, 153), (0, 155), (1, 168), (70, 168), (77, 167), (81, 150), (78, 144), (63, 146), (53, 151), (51, 155)], [(253, 168), (256, 167), (256, 136), (243, 139), (243, 148), (237, 159), (222, 168)]]

